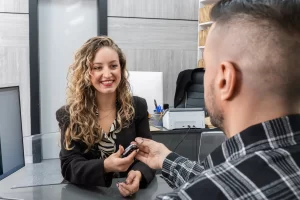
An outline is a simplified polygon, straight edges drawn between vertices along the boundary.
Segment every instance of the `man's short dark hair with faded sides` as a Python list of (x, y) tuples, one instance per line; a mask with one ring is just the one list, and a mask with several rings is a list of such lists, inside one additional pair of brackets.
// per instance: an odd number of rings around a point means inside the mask
[(300, 0), (220, 0), (210, 16), (216, 27), (240, 26), (249, 31), (257, 29), (267, 36), (258, 36), (252, 42), (260, 48), (265, 42), (273, 43), (273, 49), (266, 49), (262, 58), (268, 55), (278, 62), (262, 59), (261, 69), (265, 71), (260, 76), (274, 84), (267, 84), (269, 91), (300, 99)]

